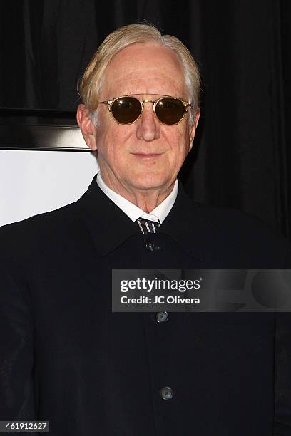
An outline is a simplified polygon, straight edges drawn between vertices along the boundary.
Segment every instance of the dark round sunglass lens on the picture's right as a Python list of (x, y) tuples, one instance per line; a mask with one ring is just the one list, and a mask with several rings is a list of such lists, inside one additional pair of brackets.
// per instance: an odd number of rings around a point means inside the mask
[(162, 98), (155, 106), (158, 119), (164, 124), (176, 124), (183, 118), (185, 106), (178, 98)]

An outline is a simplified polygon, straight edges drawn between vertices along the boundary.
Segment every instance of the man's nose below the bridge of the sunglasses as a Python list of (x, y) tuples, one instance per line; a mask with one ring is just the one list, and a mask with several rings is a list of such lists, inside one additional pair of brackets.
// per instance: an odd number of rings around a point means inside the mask
[(160, 123), (153, 112), (153, 103), (143, 103), (143, 112), (136, 129), (138, 139), (153, 141), (160, 137)]

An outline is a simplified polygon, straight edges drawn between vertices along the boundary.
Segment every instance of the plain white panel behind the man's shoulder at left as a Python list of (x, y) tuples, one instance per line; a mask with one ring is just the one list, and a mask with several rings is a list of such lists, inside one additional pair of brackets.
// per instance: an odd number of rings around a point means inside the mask
[(96, 172), (90, 152), (0, 150), (0, 225), (76, 201)]

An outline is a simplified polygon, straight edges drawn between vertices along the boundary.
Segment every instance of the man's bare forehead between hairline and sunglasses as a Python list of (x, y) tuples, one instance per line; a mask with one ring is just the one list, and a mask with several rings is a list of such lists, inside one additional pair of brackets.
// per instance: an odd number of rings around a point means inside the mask
[(153, 43), (133, 44), (116, 53), (106, 68), (101, 98), (127, 94), (185, 98), (183, 68), (175, 53)]

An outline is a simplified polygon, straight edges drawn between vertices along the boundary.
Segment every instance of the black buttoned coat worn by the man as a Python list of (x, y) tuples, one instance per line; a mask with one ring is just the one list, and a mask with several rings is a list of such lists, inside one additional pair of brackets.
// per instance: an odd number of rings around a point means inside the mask
[(51, 436), (291, 435), (290, 313), (111, 311), (111, 269), (290, 267), (258, 220), (179, 184), (143, 235), (94, 177), (0, 238), (0, 420), (50, 420)]

